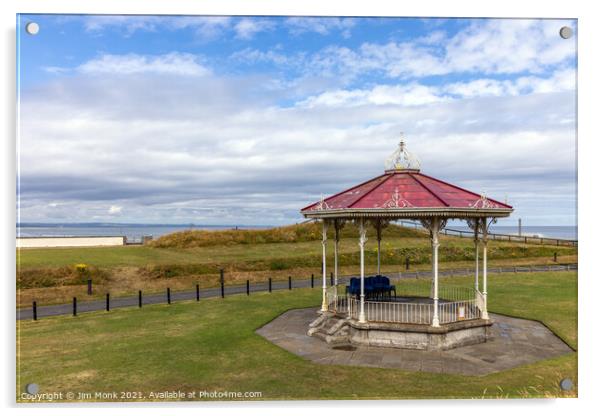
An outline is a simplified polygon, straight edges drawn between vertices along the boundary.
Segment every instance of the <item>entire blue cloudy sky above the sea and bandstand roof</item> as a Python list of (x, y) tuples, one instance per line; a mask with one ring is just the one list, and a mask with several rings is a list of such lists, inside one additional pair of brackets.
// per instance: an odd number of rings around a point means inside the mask
[(20, 222), (300, 222), (403, 132), (423, 173), (513, 205), (498, 224), (576, 223), (575, 20), (17, 24)]

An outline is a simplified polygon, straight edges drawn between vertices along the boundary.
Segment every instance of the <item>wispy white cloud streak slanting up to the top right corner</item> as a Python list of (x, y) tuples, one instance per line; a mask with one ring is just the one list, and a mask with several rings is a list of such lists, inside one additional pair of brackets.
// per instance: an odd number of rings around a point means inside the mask
[(305, 71), (342, 78), (363, 74), (408, 79), (450, 73), (539, 74), (576, 55), (575, 43), (558, 28), (571, 21), (491, 19), (479, 21), (452, 37), (444, 32), (414, 41), (331, 46), (316, 53)]

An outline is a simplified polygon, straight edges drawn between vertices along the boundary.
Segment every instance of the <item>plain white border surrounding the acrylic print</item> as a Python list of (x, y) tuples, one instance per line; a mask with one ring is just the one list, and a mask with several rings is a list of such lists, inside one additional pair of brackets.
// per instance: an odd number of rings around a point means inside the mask
[[(445, 16), (445, 17), (550, 17), (579, 19), (579, 394), (578, 400), (512, 400), (512, 401), (410, 401), (410, 402), (271, 402), (271, 403), (203, 403), (183, 404), (179, 406), (179, 414), (198, 414), (201, 412), (223, 413), (233, 409), (240, 412), (243, 409), (251, 414), (282, 414), (286, 409), (288, 414), (306, 414), (309, 408), (344, 407), (337, 412), (391, 412), (403, 411), (424, 412), (427, 409), (438, 412), (468, 410), (471, 413), (486, 411), (488, 415), (508, 412), (546, 412), (546, 414), (580, 414), (586, 412), (594, 401), (600, 402), (597, 387), (599, 386), (600, 352), (602, 345), (599, 331), (601, 328), (599, 295), (602, 271), (596, 259), (600, 257), (597, 246), (601, 234), (597, 218), (602, 187), (600, 181), (600, 44), (602, 39), (602, 17), (596, 10), (596, 2), (576, 2), (548, 0), (545, 2), (528, 2), (525, 0), (469, 1), (469, 0), (421, 0), (393, 2), (386, 0), (347, 0), (347, 1), (184, 1), (184, 0), (55, 0), (33, 1), (5, 0), (0, 3), (2, 8), (2, 126), (4, 140), (2, 141), (2, 275), (4, 314), (2, 319), (3, 377), (0, 391), (2, 402), (6, 407), (13, 407), (9, 412), (23, 410), (14, 408), (14, 313), (15, 313), (15, 15), (22, 13), (121, 13), (121, 14), (255, 14), (255, 15), (371, 15), (371, 16)], [(597, 310), (598, 309), (598, 310)], [(596, 321), (597, 320), (597, 321)], [(598, 351), (595, 351), (595, 350)], [(390, 409), (390, 406), (402, 406), (403, 409)], [(91, 406), (87, 406), (91, 407)], [(112, 414), (131, 413), (131, 405), (112, 405)], [(144, 406), (144, 412), (149, 415), (164, 415), (165, 405)], [(201, 409), (199, 409), (199, 407)], [(309, 408), (308, 408), (309, 407)], [(387, 409), (385, 409), (387, 407)], [(26, 407), (31, 410), (33, 407)], [(90, 414), (107, 413), (107, 409), (88, 408)], [(599, 409), (598, 409), (599, 411)], [(62, 408), (40, 408), (37, 412), (44, 414), (80, 414), (76, 406)], [(589, 413), (589, 412), (588, 412)]]

